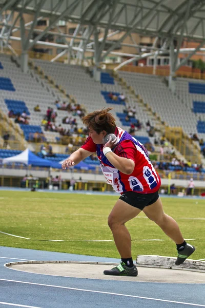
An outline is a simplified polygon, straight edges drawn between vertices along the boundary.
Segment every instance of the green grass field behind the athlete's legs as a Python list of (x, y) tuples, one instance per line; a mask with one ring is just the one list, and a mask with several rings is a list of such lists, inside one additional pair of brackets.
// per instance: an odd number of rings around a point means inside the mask
[[(114, 242), (89, 241), (113, 240), (107, 217), (117, 199), (117, 196), (1, 191), (0, 231), (31, 240), (0, 233), (0, 246), (119, 258)], [(197, 248), (192, 258), (205, 258), (204, 201), (162, 198), (162, 202), (166, 213), (178, 222), (185, 239), (195, 239), (189, 241)], [(126, 225), (132, 237), (133, 258), (143, 254), (176, 257), (174, 242), (143, 213)], [(145, 241), (150, 239), (163, 241)]]

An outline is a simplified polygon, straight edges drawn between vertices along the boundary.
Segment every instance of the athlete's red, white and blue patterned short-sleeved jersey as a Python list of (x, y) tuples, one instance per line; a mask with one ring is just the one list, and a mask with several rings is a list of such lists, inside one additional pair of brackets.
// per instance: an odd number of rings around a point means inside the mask
[(157, 191), (161, 185), (161, 180), (144, 145), (120, 127), (116, 128), (115, 135), (118, 144), (112, 151), (117, 156), (134, 161), (135, 167), (131, 175), (126, 175), (116, 169), (104, 155), (104, 145), (95, 144), (91, 137), (88, 137), (81, 147), (90, 152), (97, 152), (97, 158), (107, 183), (111, 184), (119, 194), (123, 194), (125, 191), (151, 194)]

